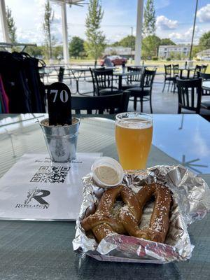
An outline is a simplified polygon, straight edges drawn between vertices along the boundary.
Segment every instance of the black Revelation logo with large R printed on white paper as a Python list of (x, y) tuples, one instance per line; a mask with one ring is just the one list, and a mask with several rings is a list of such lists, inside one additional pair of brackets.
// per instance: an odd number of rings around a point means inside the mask
[(43, 197), (47, 197), (48, 195), (50, 195), (49, 190), (34, 188), (28, 191), (27, 200), (25, 200), (24, 204), (17, 204), (15, 208), (48, 209), (50, 204), (43, 199)]

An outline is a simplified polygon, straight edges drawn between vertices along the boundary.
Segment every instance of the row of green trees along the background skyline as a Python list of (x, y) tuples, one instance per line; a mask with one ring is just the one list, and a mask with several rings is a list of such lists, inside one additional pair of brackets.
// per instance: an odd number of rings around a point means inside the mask
[[(8, 29), (10, 40), (14, 43), (17, 40), (15, 21), (12, 11), (6, 9)], [(95, 63), (103, 55), (106, 46), (123, 46), (134, 50), (135, 36), (129, 35), (118, 42), (107, 44), (106, 37), (101, 30), (104, 10), (99, 0), (90, 0), (87, 17), (85, 19), (86, 40), (78, 36), (73, 36), (69, 43), (69, 55), (74, 58), (92, 58)], [(62, 59), (62, 45), (57, 45), (56, 38), (52, 36), (52, 24), (54, 20), (54, 11), (50, 6), (50, 1), (45, 0), (45, 13), (43, 18), (44, 44), (38, 47), (29, 47), (27, 51), (36, 57), (44, 59)], [(153, 0), (147, 0), (144, 7), (144, 27), (142, 40), (142, 59), (158, 59), (158, 48), (160, 45), (176, 45), (170, 38), (159, 38), (156, 36), (156, 17)], [(200, 37), (199, 45), (193, 47), (193, 56), (201, 50), (210, 48), (210, 31)], [(180, 54), (172, 53), (172, 58), (181, 59)], [(174, 57), (173, 57), (174, 56)], [(179, 57), (180, 56), (180, 57)]]

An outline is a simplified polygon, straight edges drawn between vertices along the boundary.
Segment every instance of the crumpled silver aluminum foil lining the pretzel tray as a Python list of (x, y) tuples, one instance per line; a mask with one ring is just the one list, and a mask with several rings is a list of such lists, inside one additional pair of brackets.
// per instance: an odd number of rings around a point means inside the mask
[[(202, 219), (210, 210), (210, 190), (207, 183), (185, 167), (155, 166), (135, 174), (125, 174), (123, 183), (137, 193), (145, 183), (164, 183), (172, 191), (169, 231), (165, 244), (117, 233), (108, 235), (97, 244), (94, 237), (87, 237), (80, 221), (94, 214), (104, 193), (92, 180), (92, 174), (83, 178), (83, 204), (76, 221), (73, 250), (81, 256), (104, 261), (167, 263), (188, 260), (194, 246), (190, 244), (187, 227)], [(146, 204), (140, 228), (148, 228), (154, 202)]]

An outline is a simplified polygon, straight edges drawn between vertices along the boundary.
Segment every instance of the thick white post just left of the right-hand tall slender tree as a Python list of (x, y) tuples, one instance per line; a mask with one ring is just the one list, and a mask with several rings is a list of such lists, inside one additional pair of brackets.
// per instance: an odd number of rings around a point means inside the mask
[(144, 0), (137, 1), (137, 34), (135, 45), (135, 65), (139, 65), (141, 62), (141, 40), (143, 29), (143, 15), (144, 15)]

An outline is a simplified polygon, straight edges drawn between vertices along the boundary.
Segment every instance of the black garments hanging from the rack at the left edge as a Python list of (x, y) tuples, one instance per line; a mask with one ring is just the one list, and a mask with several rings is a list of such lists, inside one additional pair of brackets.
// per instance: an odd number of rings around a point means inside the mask
[(0, 52), (0, 73), (10, 113), (45, 112), (45, 90), (38, 73), (38, 59), (25, 52)]

